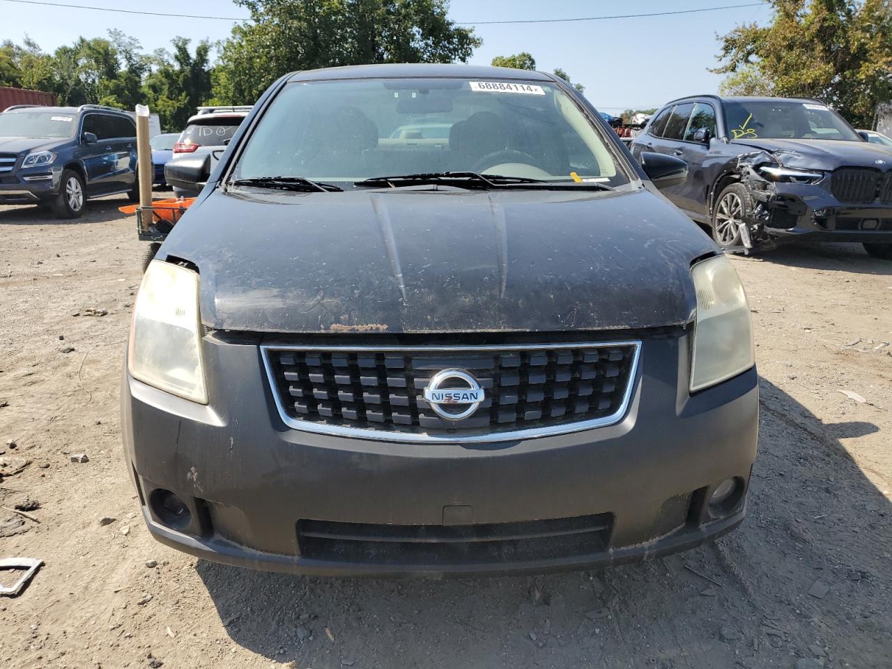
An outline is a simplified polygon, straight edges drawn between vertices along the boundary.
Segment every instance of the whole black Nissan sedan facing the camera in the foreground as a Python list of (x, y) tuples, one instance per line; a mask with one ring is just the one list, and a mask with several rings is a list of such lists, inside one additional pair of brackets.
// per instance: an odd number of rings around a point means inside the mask
[[(435, 131), (431, 131), (434, 128)], [(121, 392), (159, 540), (302, 574), (532, 573), (746, 511), (731, 260), (552, 75), (279, 79), (161, 246)]]

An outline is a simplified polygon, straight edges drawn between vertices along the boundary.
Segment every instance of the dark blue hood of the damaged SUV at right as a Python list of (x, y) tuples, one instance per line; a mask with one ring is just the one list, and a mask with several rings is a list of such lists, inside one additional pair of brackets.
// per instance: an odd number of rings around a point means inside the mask
[(878, 167), (892, 165), (892, 150), (888, 146), (869, 142), (842, 142), (830, 139), (747, 139), (732, 144), (751, 146), (773, 153), (780, 164), (790, 168), (824, 169), (839, 167)]

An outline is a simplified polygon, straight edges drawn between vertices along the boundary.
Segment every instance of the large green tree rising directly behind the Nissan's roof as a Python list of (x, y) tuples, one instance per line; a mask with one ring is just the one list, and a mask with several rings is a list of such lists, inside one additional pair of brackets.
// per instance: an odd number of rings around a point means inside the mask
[(235, 0), (251, 12), (212, 72), (219, 102), (253, 103), (292, 70), (376, 62), (467, 62), (482, 44), (448, 0)]

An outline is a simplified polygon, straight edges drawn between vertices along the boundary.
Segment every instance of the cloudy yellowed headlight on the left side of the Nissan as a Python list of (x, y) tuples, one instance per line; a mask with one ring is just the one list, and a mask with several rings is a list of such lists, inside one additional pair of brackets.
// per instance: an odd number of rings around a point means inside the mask
[(130, 376), (207, 404), (198, 317), (198, 275), (161, 260), (149, 263), (133, 308)]

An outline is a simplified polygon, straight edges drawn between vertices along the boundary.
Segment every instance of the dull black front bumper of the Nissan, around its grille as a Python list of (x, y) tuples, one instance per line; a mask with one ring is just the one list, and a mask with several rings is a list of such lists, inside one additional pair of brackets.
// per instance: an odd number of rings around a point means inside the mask
[[(615, 425), (465, 445), (290, 429), (256, 343), (203, 343), (208, 406), (127, 374), (122, 390), (125, 453), (146, 524), (201, 558), (318, 575), (523, 574), (689, 549), (745, 514), (756, 370), (691, 396), (687, 337), (642, 343), (632, 403)], [(706, 500), (728, 478), (740, 494), (711, 511)], [(160, 490), (186, 502), (187, 524), (160, 514)], [(516, 536), (489, 550), (491, 532)], [(444, 536), (465, 540), (436, 543)]]

